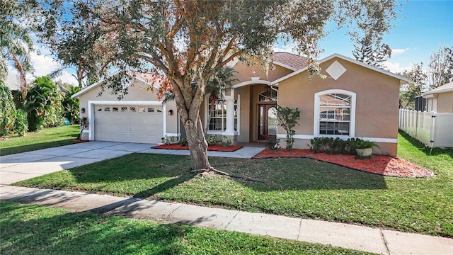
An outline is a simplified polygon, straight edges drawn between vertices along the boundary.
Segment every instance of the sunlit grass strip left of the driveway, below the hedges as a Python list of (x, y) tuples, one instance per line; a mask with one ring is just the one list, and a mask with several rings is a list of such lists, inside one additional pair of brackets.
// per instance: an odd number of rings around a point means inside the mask
[(79, 137), (79, 125), (47, 128), (39, 132), (28, 132), (23, 137), (11, 137), (0, 141), (0, 156), (36, 149), (71, 145)]

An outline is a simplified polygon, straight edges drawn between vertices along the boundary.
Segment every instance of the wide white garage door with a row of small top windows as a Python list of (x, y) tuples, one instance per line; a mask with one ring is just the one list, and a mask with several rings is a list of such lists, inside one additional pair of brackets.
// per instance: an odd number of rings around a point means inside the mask
[(94, 139), (158, 143), (164, 137), (162, 106), (94, 106)]

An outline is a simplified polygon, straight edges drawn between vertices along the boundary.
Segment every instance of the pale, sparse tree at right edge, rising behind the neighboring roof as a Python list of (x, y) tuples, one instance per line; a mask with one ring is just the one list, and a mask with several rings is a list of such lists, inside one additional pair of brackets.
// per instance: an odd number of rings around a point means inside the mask
[(453, 81), (453, 47), (440, 47), (432, 52), (428, 64), (428, 82), (430, 89)]

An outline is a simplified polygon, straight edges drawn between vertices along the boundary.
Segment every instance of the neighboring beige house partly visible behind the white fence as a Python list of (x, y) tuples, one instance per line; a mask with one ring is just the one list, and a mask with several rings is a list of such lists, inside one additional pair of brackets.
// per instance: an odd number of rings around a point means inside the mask
[(426, 99), (426, 111), (453, 113), (453, 81), (422, 94)]

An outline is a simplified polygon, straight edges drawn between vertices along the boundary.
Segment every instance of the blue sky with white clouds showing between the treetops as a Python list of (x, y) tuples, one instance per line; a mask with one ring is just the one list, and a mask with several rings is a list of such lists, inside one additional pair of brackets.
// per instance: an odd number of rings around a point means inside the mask
[[(400, 1), (401, 11), (393, 22), (395, 28), (384, 36), (384, 43), (394, 50), (391, 58), (385, 62), (391, 72), (402, 72), (410, 69), (412, 64), (423, 62), (424, 68), (428, 66), (430, 55), (439, 47), (453, 47), (453, 0), (411, 0)], [(330, 26), (331, 32), (323, 38), (319, 46), (324, 50), (321, 58), (339, 53), (352, 57), (354, 49), (345, 30), (336, 30)], [(277, 45), (276, 50), (291, 51), (283, 45)], [(41, 49), (42, 55), (33, 54), (35, 77), (49, 74), (59, 65), (52, 60), (52, 55)], [(74, 69), (67, 69), (61, 77), (64, 82), (76, 84), (76, 79), (71, 77)]]

